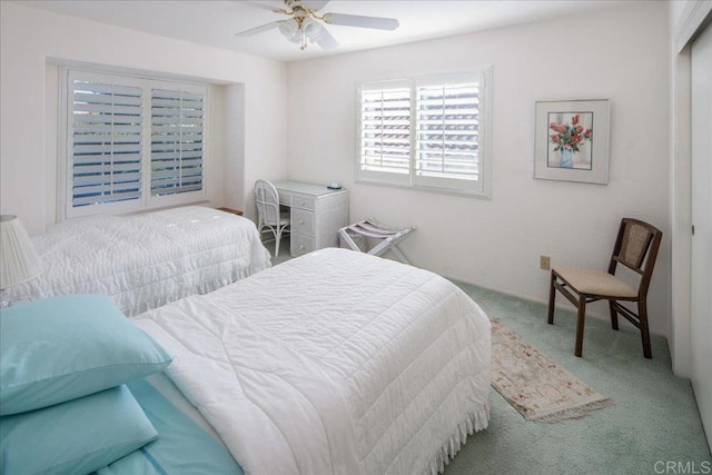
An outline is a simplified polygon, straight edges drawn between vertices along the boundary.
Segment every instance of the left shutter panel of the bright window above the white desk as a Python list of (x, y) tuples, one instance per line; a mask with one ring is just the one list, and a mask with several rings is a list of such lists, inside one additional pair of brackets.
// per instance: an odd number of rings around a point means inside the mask
[[(411, 172), (411, 87), (388, 81), (360, 90), (360, 175)], [(396, 179), (392, 177), (390, 179)]]

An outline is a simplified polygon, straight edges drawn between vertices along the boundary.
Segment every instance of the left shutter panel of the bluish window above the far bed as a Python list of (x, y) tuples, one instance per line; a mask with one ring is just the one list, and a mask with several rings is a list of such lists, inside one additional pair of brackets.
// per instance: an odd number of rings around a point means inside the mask
[(142, 90), (72, 80), (71, 206), (141, 198)]

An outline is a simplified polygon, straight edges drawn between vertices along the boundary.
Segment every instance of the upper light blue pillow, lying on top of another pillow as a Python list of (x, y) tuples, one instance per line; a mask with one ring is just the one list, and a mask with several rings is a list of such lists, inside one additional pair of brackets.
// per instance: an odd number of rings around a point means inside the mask
[(65, 295), (0, 314), (0, 415), (47, 407), (162, 370), (170, 356), (110, 297)]

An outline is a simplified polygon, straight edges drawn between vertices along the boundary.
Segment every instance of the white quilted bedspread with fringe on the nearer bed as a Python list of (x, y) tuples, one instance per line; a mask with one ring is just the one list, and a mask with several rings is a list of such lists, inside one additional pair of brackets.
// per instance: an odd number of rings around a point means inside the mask
[(134, 321), (248, 473), (434, 473), (488, 423), (490, 320), (392, 260), (322, 249)]

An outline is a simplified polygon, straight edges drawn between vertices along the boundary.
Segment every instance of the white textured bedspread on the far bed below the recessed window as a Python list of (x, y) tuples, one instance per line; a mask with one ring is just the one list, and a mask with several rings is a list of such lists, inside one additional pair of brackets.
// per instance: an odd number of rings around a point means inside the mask
[(127, 315), (270, 266), (253, 221), (201, 206), (66, 221), (32, 243), (44, 271), (8, 289), (11, 301), (107, 294)]

